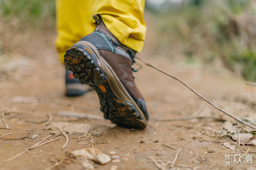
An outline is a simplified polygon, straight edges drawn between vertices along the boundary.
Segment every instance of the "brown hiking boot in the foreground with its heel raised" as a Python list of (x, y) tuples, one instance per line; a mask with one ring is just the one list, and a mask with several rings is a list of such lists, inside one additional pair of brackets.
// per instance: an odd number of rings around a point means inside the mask
[(132, 74), (136, 51), (121, 44), (99, 14), (97, 27), (66, 51), (65, 62), (80, 83), (94, 89), (105, 119), (131, 128), (146, 128), (146, 104)]

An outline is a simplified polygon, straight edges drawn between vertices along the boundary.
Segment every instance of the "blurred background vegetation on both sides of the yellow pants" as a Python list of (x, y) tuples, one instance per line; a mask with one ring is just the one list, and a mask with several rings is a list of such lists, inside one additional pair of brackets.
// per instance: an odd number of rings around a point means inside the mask
[[(154, 44), (159, 55), (225, 66), (256, 81), (255, 1), (147, 0), (145, 8), (156, 26)], [(55, 1), (0, 1), (1, 54), (30, 55), (22, 50), (21, 42), (48, 32), (55, 34)]]

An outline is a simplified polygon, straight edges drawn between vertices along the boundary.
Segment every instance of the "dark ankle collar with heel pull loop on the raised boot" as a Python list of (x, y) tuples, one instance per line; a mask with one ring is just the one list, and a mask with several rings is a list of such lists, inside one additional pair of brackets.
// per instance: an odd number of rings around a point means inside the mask
[(102, 32), (105, 37), (112, 42), (113, 46), (116, 46), (118, 48), (123, 49), (124, 51), (126, 51), (130, 57), (132, 58), (132, 60), (135, 57), (135, 54), (137, 51), (130, 49), (129, 47), (123, 45), (111, 32), (110, 30), (108, 30), (108, 28), (106, 27), (105, 23), (103, 22), (103, 19), (101, 17), (100, 14), (95, 14), (93, 16), (93, 18), (95, 19), (96, 23), (97, 23), (97, 27), (95, 28), (94, 31), (99, 31)]

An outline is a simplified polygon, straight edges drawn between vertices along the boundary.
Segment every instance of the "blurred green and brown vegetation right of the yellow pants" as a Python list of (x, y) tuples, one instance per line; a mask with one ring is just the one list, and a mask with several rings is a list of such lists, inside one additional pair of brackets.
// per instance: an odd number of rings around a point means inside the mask
[(226, 68), (256, 81), (256, 2), (185, 2), (170, 3), (168, 11), (153, 10), (160, 44), (169, 47), (166, 53), (180, 50), (189, 63), (220, 60)]

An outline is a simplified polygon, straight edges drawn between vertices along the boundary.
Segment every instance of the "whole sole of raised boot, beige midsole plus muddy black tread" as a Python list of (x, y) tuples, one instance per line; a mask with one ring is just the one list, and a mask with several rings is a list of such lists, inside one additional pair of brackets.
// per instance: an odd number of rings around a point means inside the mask
[(97, 92), (105, 119), (119, 126), (146, 128), (144, 114), (140, 113), (140, 109), (138, 111), (137, 104), (137, 108), (134, 106), (134, 101), (129, 100), (127, 92), (122, 93), (124, 87), (119, 88), (117, 83), (120, 80), (114, 79), (117, 78), (116, 74), (108, 70), (109, 64), (99, 55), (94, 45), (79, 41), (66, 51), (64, 58), (73, 76)]

